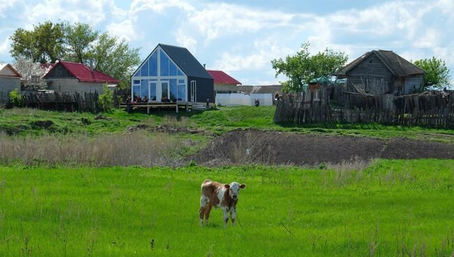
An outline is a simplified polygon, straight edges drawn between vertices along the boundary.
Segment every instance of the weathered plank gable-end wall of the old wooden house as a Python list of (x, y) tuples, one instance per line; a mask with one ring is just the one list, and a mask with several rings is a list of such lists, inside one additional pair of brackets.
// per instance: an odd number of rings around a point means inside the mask
[[(381, 93), (382, 91), (392, 92), (394, 90), (393, 73), (376, 54), (370, 54), (366, 57), (348, 71), (346, 77), (349, 78), (349, 82), (367, 92)], [(369, 88), (367, 88), (368, 85)]]

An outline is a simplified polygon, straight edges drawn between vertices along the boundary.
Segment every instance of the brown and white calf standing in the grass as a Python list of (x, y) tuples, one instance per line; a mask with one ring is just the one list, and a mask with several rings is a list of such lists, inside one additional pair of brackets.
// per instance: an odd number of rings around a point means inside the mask
[(237, 182), (221, 184), (205, 179), (202, 183), (202, 196), (200, 197), (200, 209), (198, 210), (200, 226), (203, 226), (203, 216), (205, 216), (205, 222), (208, 223), (213, 206), (216, 208), (221, 207), (224, 213), (224, 228), (227, 227), (229, 212), (232, 225), (235, 226), (238, 195), (240, 194), (240, 189), (244, 189), (244, 187), (246, 187), (245, 184), (238, 184)]

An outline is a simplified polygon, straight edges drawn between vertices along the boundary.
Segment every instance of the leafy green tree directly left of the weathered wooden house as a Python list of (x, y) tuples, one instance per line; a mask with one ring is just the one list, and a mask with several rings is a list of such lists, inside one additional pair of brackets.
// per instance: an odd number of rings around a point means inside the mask
[(272, 68), (289, 79), (282, 82), (284, 91), (301, 91), (302, 85), (312, 78), (330, 75), (344, 67), (349, 57), (344, 52), (334, 52), (326, 48), (315, 55), (309, 53), (310, 43), (301, 45), (301, 50), (295, 55), (288, 55), (286, 59), (273, 59)]

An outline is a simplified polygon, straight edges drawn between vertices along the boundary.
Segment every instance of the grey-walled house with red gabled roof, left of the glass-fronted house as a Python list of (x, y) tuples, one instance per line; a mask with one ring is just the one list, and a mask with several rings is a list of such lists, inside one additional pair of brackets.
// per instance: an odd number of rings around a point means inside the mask
[(119, 80), (101, 71), (70, 61), (57, 62), (43, 78), (47, 82), (47, 89), (69, 94), (95, 91), (101, 94), (105, 84), (118, 85), (119, 83)]

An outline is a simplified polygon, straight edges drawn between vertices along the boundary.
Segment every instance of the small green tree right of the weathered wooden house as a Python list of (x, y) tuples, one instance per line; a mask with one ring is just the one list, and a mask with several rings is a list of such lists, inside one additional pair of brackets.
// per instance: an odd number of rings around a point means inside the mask
[(451, 75), (446, 67), (445, 61), (432, 57), (430, 59), (420, 59), (414, 61), (414, 64), (425, 71), (424, 88), (441, 89), (450, 84)]

